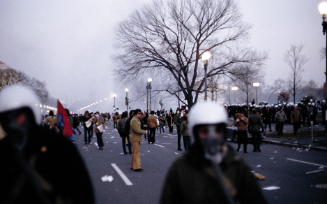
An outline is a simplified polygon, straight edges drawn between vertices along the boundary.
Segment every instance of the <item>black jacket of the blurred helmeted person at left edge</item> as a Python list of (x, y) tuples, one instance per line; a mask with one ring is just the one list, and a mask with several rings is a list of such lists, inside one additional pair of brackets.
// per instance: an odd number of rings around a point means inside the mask
[(45, 203), (39, 191), (48, 203), (94, 203), (89, 173), (70, 140), (36, 126), (20, 153), (11, 137), (0, 140), (1, 202), (9, 202), (11, 195), (9, 203)]

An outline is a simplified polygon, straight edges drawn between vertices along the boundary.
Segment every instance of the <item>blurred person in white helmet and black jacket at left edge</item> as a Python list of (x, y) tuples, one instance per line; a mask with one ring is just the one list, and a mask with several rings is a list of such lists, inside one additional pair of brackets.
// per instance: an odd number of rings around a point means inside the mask
[(0, 203), (94, 203), (75, 145), (41, 126), (36, 94), (22, 85), (0, 91)]

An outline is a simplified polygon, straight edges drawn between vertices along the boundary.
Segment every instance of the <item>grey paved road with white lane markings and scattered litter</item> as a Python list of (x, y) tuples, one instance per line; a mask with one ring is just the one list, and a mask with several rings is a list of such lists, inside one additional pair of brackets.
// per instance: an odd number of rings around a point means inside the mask
[[(83, 133), (76, 139), (93, 180), (96, 203), (158, 203), (167, 169), (183, 154), (177, 151), (176, 130), (174, 134), (156, 133), (154, 145), (141, 144), (142, 172), (130, 170), (130, 154), (122, 154), (121, 138), (112, 125), (107, 125), (103, 140), (104, 150), (98, 150), (95, 135), (91, 145), (84, 145)], [(236, 143), (229, 145), (237, 147)], [(271, 144), (263, 144), (261, 153), (252, 150), (249, 145), (248, 154), (238, 154), (252, 170), (266, 177), (259, 184), (269, 203), (326, 203), (326, 152)], [(324, 171), (306, 174), (316, 170)], [(112, 176), (112, 182), (102, 182), (105, 175)], [(318, 188), (319, 184), (324, 188)]]

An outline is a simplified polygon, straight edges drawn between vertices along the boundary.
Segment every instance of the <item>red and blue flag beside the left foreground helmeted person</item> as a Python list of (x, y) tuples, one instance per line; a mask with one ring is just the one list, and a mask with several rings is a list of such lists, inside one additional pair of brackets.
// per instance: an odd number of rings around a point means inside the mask
[(65, 136), (66, 138), (73, 136), (74, 131), (73, 131), (72, 126), (70, 125), (67, 112), (66, 112), (65, 108), (63, 108), (63, 105), (61, 105), (59, 100), (58, 100), (56, 108), (57, 108), (56, 117), (58, 119), (58, 122), (57, 122), (58, 128), (61, 127), (63, 129), (63, 136)]

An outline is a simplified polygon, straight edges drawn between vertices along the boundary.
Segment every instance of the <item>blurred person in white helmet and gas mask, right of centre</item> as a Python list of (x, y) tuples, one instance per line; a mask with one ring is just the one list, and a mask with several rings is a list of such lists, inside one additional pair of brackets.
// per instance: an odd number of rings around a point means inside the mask
[(225, 143), (227, 123), (223, 106), (193, 105), (188, 124), (195, 142), (169, 168), (160, 203), (267, 203), (248, 165)]

